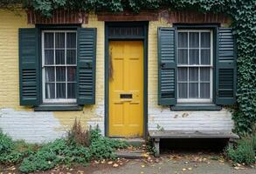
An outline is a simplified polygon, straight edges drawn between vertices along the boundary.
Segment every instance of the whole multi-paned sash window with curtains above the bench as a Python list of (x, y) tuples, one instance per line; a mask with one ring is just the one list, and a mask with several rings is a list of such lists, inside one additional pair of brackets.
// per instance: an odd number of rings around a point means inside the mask
[(212, 102), (212, 32), (178, 30), (177, 102)]

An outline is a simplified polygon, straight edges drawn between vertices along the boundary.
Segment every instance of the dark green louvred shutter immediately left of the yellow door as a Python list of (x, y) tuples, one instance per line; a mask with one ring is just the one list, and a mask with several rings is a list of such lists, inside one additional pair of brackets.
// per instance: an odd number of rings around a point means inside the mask
[(78, 104), (95, 104), (96, 38), (96, 29), (78, 30)]

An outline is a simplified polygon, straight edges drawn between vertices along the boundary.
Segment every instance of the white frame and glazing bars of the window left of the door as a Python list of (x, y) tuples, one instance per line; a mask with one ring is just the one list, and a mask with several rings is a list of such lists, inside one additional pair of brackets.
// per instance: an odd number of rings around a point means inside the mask
[[(65, 33), (65, 63), (66, 63), (66, 50), (68, 48), (66, 48), (66, 33), (67, 32), (74, 32), (77, 33), (76, 30), (42, 30), (41, 36), (42, 36), (42, 90), (43, 90), (43, 104), (76, 104), (77, 99), (76, 98), (55, 98), (55, 99), (48, 99), (45, 97), (45, 66), (46, 67), (58, 67), (58, 66), (65, 66), (66, 69), (68, 66), (75, 66), (77, 67), (77, 57), (76, 57), (76, 64), (55, 64), (56, 58), (55, 58), (55, 34), (53, 35), (53, 57), (54, 57), (54, 64), (52, 65), (45, 65), (45, 33), (57, 33), (57, 32), (63, 32)], [(77, 37), (77, 35), (76, 35)], [(76, 47), (75, 50), (77, 52), (77, 39), (76, 39)], [(55, 70), (55, 80), (54, 80), (54, 84), (55, 84), (55, 97), (57, 95), (57, 83), (56, 83), (56, 69)], [(67, 93), (67, 70), (66, 70), (66, 93)], [(76, 82), (77, 83), (77, 79)]]

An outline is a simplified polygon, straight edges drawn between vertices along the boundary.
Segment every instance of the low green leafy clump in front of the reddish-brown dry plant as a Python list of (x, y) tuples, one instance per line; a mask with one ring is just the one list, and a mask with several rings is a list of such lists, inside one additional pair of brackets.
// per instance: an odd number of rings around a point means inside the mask
[(24, 173), (45, 171), (57, 164), (86, 163), (90, 158), (91, 155), (86, 147), (80, 144), (68, 144), (66, 139), (57, 139), (45, 144), (29, 157), (25, 157), (19, 170)]

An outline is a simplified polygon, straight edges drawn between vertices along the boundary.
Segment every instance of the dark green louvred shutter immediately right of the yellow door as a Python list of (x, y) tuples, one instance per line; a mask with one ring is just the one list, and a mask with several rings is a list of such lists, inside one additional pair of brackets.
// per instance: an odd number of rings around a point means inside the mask
[(176, 32), (158, 29), (158, 104), (176, 104)]

